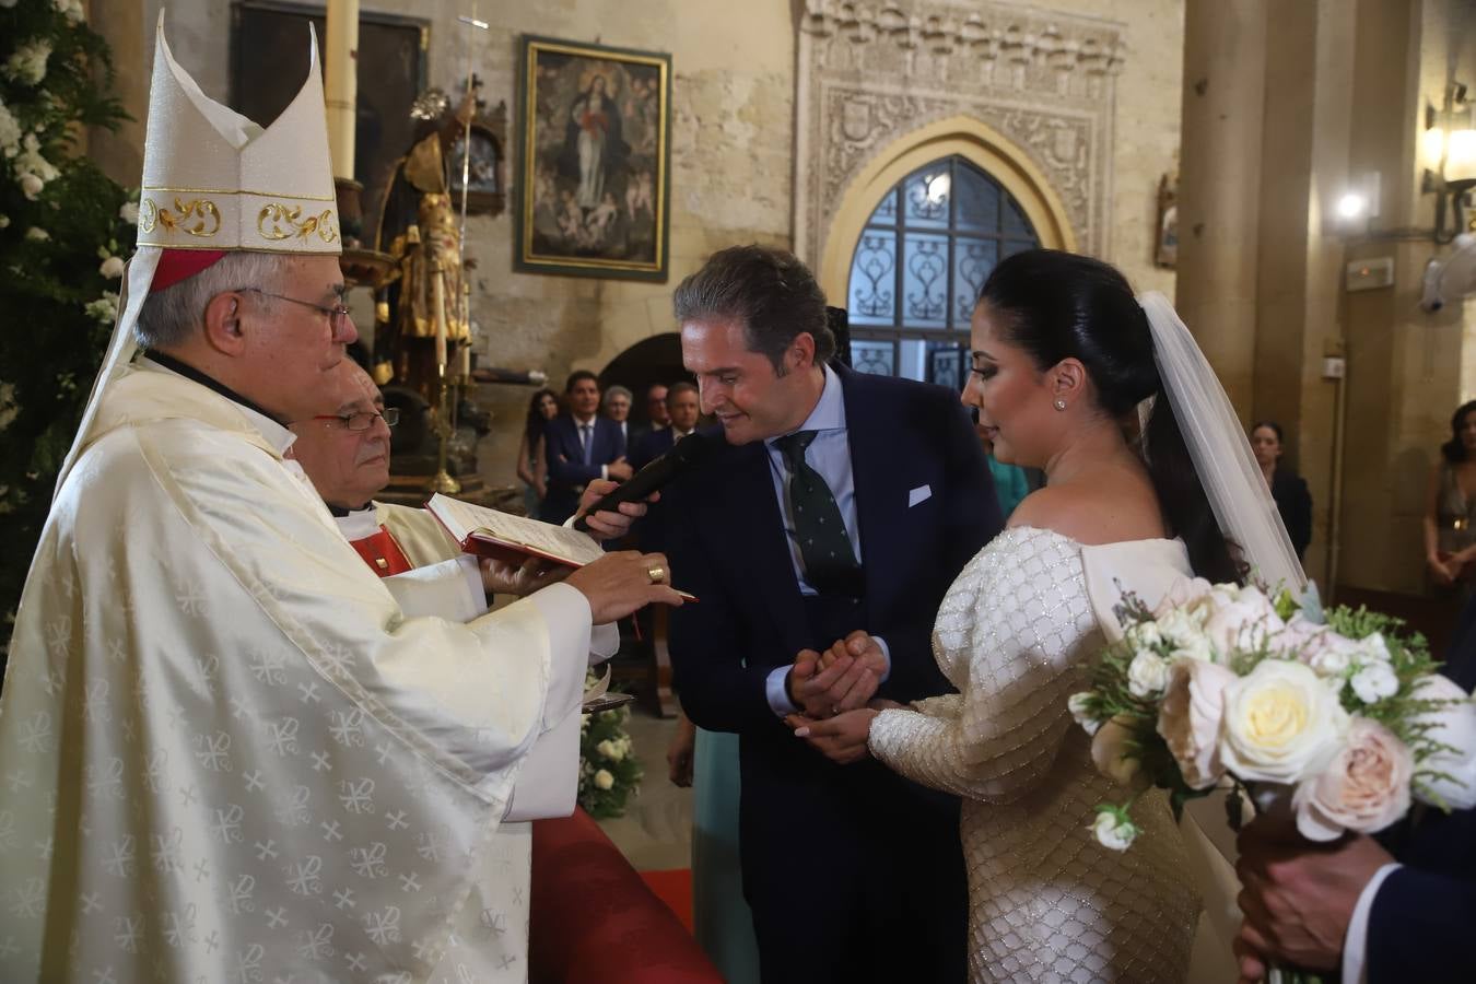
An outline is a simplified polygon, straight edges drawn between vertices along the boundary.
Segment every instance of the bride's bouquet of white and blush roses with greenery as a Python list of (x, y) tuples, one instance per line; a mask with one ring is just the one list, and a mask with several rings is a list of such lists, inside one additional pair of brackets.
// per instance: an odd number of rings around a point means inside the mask
[(1382, 831), (1411, 800), (1476, 805), (1476, 704), (1398, 618), (1204, 580), (1153, 611), (1126, 595), (1117, 617), (1123, 639), (1070, 698), (1097, 767), (1134, 789), (1097, 807), (1106, 847), (1132, 844), (1132, 804), (1153, 786), (1178, 816), (1228, 783), (1232, 826), (1249, 786), (1312, 841)]

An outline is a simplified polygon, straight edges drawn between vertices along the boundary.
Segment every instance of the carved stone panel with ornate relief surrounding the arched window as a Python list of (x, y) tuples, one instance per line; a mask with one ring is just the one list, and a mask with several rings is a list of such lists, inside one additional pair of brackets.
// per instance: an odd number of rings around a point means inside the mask
[(979, 0), (806, 0), (796, 245), (810, 260), (846, 189), (908, 133), (967, 115), (1049, 181), (1082, 249), (1107, 246), (1122, 25)]

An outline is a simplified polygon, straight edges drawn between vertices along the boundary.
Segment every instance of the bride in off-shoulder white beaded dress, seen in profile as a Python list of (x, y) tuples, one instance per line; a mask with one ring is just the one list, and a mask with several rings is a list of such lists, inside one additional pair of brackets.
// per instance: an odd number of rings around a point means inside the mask
[[(933, 651), (958, 693), (793, 723), (837, 761), (869, 752), (962, 797), (974, 981), (1184, 981), (1200, 903), (1168, 801), (1139, 800), (1131, 850), (1095, 842), (1095, 805), (1123, 789), (1094, 767), (1067, 698), (1119, 631), (1123, 590), (1153, 606), (1179, 577), (1237, 580), (1240, 565), (1122, 274), (1086, 257), (1017, 254), (984, 285), (971, 347), (964, 403), (996, 457), (1044, 468), (1046, 487), (943, 599)], [(846, 645), (831, 655), (846, 658)]]

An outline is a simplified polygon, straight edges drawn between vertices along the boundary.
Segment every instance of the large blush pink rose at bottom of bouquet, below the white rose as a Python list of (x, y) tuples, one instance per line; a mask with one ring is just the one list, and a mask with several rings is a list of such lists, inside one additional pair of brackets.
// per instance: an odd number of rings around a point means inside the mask
[(1309, 841), (1382, 831), (1408, 811), (1413, 775), (1408, 746), (1379, 721), (1355, 717), (1327, 769), (1297, 786), (1297, 831)]

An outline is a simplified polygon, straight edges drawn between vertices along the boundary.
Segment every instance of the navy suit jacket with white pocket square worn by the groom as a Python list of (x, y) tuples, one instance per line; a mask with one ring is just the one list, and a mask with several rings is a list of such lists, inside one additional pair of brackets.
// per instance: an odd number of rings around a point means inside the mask
[[(855, 628), (890, 649), (878, 696), (946, 693), (933, 618), (964, 564), (1002, 527), (983, 450), (952, 391), (837, 372), (865, 569), (866, 624)], [(924, 487), (927, 497), (909, 505)], [(745, 745), (762, 738), (787, 757), (806, 751), (769, 707), (765, 683), (801, 649), (834, 639), (807, 636), (768, 450), (762, 441), (725, 447), (664, 499), (673, 578), (701, 599), (672, 614), (683, 710), (701, 727), (741, 733)]]

